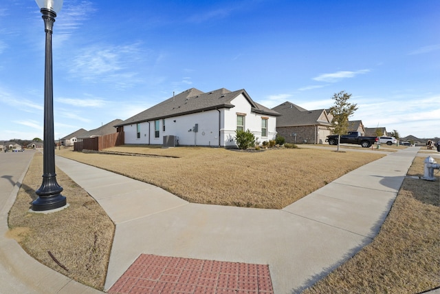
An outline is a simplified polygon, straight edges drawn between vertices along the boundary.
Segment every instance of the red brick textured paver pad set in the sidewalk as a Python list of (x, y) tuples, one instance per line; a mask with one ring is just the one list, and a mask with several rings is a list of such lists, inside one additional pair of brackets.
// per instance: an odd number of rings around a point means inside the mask
[(108, 293), (273, 294), (274, 291), (266, 264), (141, 254)]

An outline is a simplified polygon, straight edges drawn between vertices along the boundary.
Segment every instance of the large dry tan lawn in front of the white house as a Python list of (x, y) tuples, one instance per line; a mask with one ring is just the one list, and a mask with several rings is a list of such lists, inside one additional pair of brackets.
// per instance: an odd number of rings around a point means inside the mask
[(58, 154), (162, 187), (189, 202), (266, 209), (286, 207), (383, 156), (316, 149), (249, 152), (124, 146), (107, 151), (150, 156), (85, 154), (72, 149)]

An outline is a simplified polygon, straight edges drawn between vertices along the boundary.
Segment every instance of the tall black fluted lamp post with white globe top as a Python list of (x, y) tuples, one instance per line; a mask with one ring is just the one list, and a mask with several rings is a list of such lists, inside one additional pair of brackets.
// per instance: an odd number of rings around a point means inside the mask
[(45, 76), (44, 76), (44, 142), (43, 183), (35, 192), (39, 198), (32, 202), (33, 211), (47, 211), (64, 207), (66, 198), (63, 188), (56, 182), (54, 139), (54, 90), (52, 81), (52, 28), (56, 13), (61, 10), (63, 0), (35, 0), (43, 14), (46, 32)]

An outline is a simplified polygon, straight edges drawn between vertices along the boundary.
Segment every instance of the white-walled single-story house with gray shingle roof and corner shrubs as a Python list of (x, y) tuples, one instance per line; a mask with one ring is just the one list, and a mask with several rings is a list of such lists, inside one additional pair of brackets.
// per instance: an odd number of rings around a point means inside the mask
[(245, 90), (195, 88), (173, 95), (116, 127), (124, 128), (125, 144), (236, 147), (235, 132), (250, 130), (259, 140), (276, 135), (278, 112), (255, 103)]

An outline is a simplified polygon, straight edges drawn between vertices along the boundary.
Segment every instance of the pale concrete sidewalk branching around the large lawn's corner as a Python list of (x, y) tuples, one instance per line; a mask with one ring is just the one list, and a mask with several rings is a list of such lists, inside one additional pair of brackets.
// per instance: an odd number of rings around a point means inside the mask
[(418, 149), (364, 165), (281, 210), (191, 204), (73, 160), (57, 157), (56, 165), (116, 224), (106, 290), (149, 253), (269, 264), (278, 294), (300, 293), (371, 242)]

